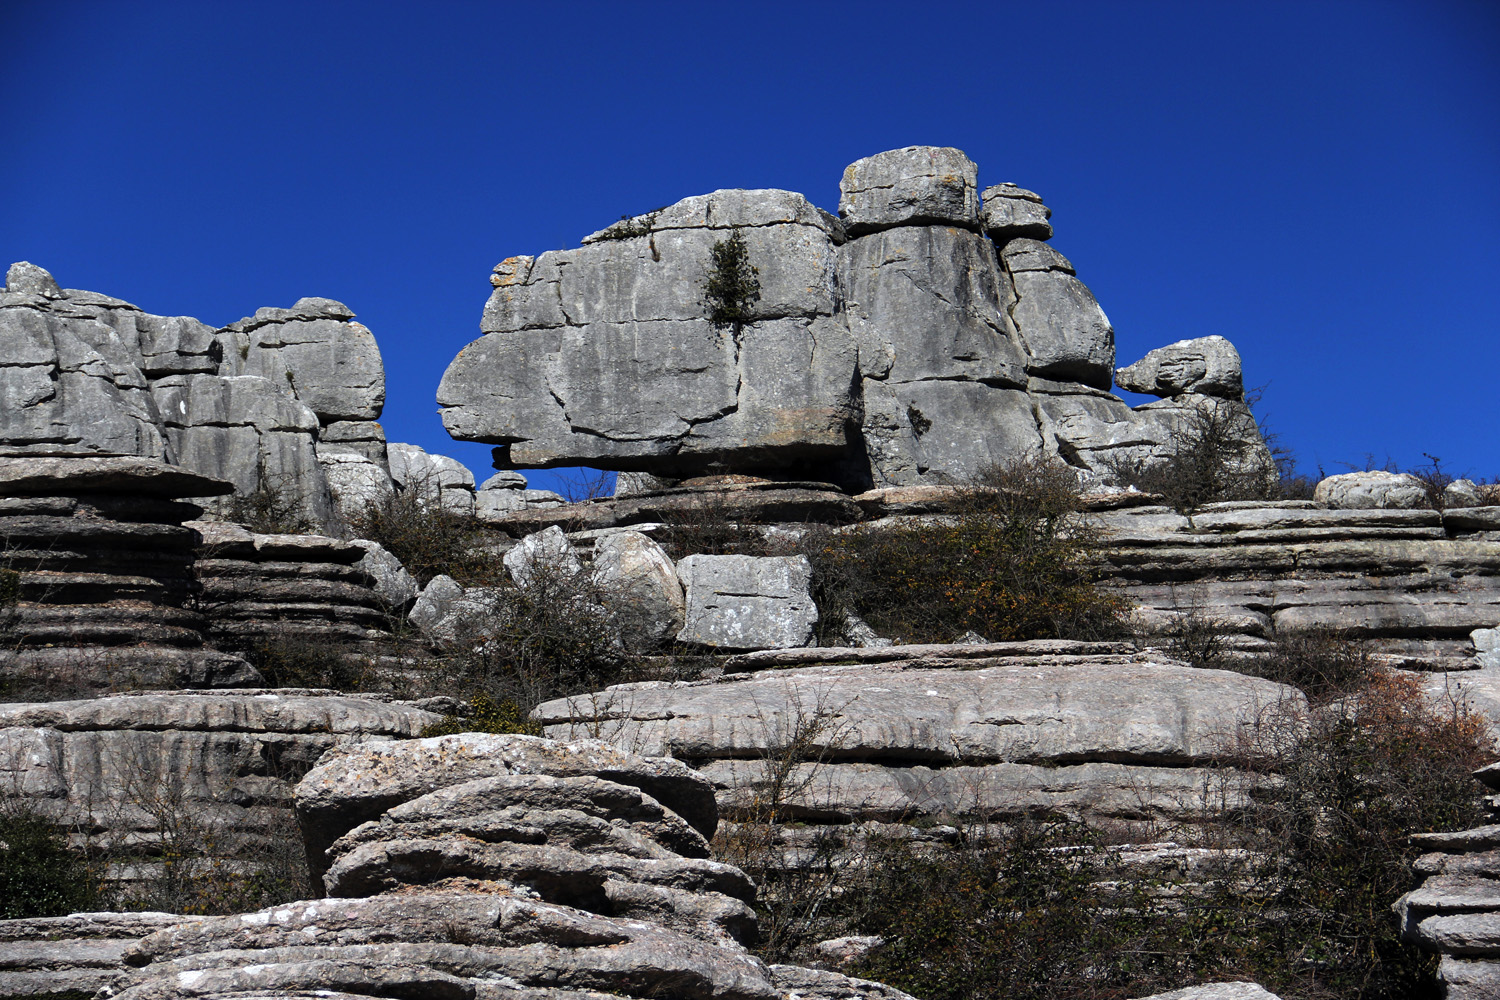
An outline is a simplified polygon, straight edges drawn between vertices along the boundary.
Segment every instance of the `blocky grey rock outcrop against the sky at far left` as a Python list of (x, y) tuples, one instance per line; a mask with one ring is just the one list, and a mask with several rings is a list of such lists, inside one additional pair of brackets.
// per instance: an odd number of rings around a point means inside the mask
[(276, 490), (326, 525), (320, 459), (386, 474), (384, 370), (352, 316), (302, 298), (214, 330), (15, 264), (0, 292), (0, 456), (164, 459), (242, 495)]

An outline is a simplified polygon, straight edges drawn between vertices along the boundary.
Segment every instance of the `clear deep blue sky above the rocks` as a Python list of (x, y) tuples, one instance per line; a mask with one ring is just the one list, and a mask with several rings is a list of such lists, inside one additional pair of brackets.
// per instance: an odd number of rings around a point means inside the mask
[(496, 261), (716, 187), (836, 210), (910, 144), (1046, 198), (1120, 364), (1230, 337), (1304, 468), (1500, 475), (1492, 0), (0, 0), (0, 265), (214, 325), (339, 298), (388, 438), (482, 478), (434, 394)]

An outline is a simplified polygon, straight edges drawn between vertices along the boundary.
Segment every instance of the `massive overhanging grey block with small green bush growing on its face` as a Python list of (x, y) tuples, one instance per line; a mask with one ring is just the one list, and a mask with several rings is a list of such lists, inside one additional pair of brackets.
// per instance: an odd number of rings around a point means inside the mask
[[(760, 298), (742, 330), (717, 330), (710, 247), (736, 225)], [(730, 190), (663, 210), (646, 235), (512, 258), (486, 336), (438, 388), (444, 426), (522, 468), (692, 474), (837, 453), (855, 351), (832, 318), (836, 234), (801, 195)]]

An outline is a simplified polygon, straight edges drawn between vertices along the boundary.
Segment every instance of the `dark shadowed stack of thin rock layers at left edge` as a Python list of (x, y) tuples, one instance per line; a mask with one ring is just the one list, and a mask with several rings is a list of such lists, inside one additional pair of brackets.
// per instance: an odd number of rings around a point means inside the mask
[(228, 484), (152, 459), (0, 460), (0, 607), (9, 697), (129, 687), (236, 687), (258, 675), (204, 648), (196, 598), (201, 510), (177, 498)]

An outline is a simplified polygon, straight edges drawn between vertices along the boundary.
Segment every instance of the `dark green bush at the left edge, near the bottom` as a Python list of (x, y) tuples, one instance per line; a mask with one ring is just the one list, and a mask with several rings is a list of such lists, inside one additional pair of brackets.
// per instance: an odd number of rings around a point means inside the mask
[(0, 919), (76, 913), (96, 897), (88, 862), (56, 826), (15, 805), (0, 811)]

